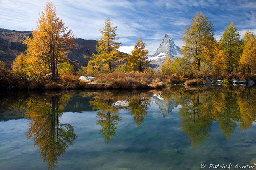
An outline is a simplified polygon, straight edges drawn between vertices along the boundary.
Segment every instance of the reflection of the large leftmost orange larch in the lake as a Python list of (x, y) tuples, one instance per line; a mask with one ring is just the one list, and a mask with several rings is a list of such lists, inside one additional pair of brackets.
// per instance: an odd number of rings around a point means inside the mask
[(49, 169), (57, 165), (58, 157), (63, 155), (69, 145), (77, 138), (70, 124), (62, 124), (59, 117), (69, 95), (38, 96), (27, 100), (26, 111), (30, 117), (28, 139), (34, 138), (34, 145), (39, 147), (42, 161)]

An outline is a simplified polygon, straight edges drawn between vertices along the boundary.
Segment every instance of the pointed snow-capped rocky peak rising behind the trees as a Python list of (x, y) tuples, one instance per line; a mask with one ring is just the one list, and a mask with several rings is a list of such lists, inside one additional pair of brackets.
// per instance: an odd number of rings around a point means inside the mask
[(149, 56), (151, 66), (154, 68), (161, 66), (168, 55), (170, 55), (171, 60), (173, 60), (174, 57), (182, 57), (180, 48), (174, 44), (169, 35), (165, 34), (164, 39), (162, 40), (159, 48), (157, 48), (155, 54)]

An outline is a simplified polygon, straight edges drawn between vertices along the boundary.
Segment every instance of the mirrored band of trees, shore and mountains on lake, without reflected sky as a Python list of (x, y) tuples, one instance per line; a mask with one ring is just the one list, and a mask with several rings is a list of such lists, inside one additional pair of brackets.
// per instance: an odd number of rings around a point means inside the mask
[(78, 138), (71, 124), (59, 120), (63, 111), (95, 111), (102, 141), (104, 138), (110, 145), (118, 135), (116, 131), (122, 121), (120, 112), (128, 112), (136, 126), (143, 126), (152, 103), (159, 107), (157, 113), (162, 114), (161, 118), (168, 118), (174, 108), (179, 109), (182, 134), (187, 136), (193, 148), (203, 146), (210, 138), (214, 122), (223, 136), (230, 138), (237, 126), (246, 131), (256, 119), (256, 88), (171, 86), (150, 91), (72, 91), (1, 96), (0, 121), (29, 118), (29, 130), (25, 136), (34, 139), (42, 161), (49, 169), (54, 169), (58, 158)]

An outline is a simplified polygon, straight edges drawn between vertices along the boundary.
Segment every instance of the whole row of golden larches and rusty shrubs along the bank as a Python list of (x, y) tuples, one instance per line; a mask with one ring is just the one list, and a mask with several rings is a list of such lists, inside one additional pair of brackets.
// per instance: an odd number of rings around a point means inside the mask
[[(75, 35), (65, 26), (48, 2), (39, 14), (32, 38), (23, 40), (25, 53), (12, 63), (11, 70), (0, 61), (2, 89), (75, 89), (75, 88), (162, 88), (168, 84), (204, 84), (205, 78), (222, 80), (256, 80), (256, 36), (250, 30), (241, 35), (231, 22), (220, 40), (214, 38), (214, 25), (202, 12), (195, 14), (182, 35), (182, 58), (167, 57), (160, 70), (150, 67), (149, 55), (141, 38), (135, 42), (130, 55), (118, 52), (118, 42), (110, 18), (100, 30), (97, 53), (88, 65), (75, 70), (66, 59)], [(89, 83), (80, 76), (95, 76)], [(97, 84), (93, 86), (92, 84)], [(99, 86), (103, 84), (103, 86)]]

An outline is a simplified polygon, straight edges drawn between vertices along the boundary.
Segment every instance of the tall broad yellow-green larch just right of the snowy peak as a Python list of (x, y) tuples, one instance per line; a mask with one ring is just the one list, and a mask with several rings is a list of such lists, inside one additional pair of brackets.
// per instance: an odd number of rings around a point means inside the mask
[(202, 12), (196, 13), (191, 19), (192, 22), (185, 28), (182, 36), (184, 46), (181, 47), (181, 53), (184, 57), (191, 59), (197, 70), (200, 70), (201, 61), (206, 55), (210, 55), (214, 48), (214, 26), (208, 17)]

